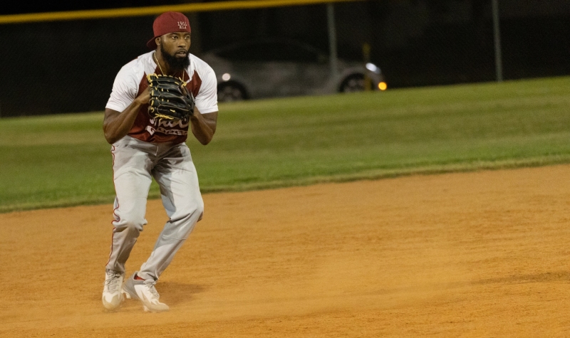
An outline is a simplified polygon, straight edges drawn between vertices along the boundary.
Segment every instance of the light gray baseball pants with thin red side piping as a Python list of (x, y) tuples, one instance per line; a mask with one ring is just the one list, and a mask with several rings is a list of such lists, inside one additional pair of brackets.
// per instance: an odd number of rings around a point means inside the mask
[(185, 143), (149, 143), (125, 136), (111, 152), (116, 196), (113, 243), (105, 268), (125, 273), (130, 251), (147, 224), (147, 197), (154, 177), (169, 220), (138, 275), (158, 280), (204, 212), (190, 149)]

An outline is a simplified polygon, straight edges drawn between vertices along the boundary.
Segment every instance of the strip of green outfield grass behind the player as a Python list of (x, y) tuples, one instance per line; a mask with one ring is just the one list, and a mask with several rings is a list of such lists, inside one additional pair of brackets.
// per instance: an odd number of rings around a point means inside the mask
[[(570, 78), (219, 106), (203, 192), (570, 162)], [(111, 203), (102, 112), (0, 119), (0, 212)], [(152, 184), (150, 196), (159, 195)]]

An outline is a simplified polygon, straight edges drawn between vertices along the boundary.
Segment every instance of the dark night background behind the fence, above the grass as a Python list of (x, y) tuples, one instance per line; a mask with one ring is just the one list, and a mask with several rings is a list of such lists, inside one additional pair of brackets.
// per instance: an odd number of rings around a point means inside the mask
[[(57, 1), (34, 12), (180, 4)], [(190, 2), (190, 1), (188, 1)], [(211, 2), (211, 1), (193, 1)], [(24, 6), (26, 5), (26, 6)], [(496, 80), (491, 0), (335, 4), (338, 56), (380, 66), (389, 88)], [(31, 12), (11, 4), (0, 14)], [(499, 0), (504, 80), (570, 75), (570, 0)], [(326, 5), (187, 13), (191, 52), (263, 36), (328, 50)], [(147, 52), (155, 16), (0, 25), (0, 116), (104, 110), (122, 65)]]

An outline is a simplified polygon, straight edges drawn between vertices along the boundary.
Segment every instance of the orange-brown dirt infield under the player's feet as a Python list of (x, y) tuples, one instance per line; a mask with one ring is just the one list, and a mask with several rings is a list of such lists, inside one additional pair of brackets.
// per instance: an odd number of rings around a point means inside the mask
[[(157, 283), (100, 302), (111, 205), (0, 214), (1, 337), (568, 337), (570, 166), (204, 195)], [(145, 260), (166, 221), (128, 261)]]

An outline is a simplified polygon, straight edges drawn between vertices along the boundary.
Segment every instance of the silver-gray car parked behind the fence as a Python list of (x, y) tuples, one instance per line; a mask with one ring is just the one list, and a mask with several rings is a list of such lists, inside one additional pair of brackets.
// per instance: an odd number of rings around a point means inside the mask
[(327, 53), (294, 40), (234, 43), (199, 57), (217, 75), (219, 102), (361, 91), (366, 78), (371, 89), (386, 88), (378, 66), (338, 59), (333, 75)]

